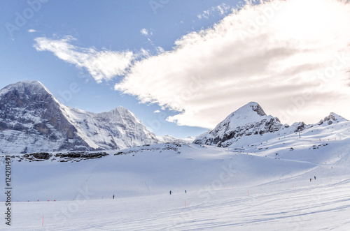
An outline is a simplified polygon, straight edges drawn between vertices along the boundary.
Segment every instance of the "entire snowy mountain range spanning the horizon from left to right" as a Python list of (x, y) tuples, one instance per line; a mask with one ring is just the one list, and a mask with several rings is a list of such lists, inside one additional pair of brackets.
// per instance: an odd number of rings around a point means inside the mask
[(21, 81), (0, 90), (2, 153), (98, 151), (167, 142), (236, 147), (252, 142), (252, 137), (265, 142), (342, 121), (347, 120), (331, 112), (317, 124), (297, 122), (289, 126), (267, 115), (258, 103), (250, 102), (229, 114), (211, 131), (195, 138), (177, 139), (151, 133), (125, 107), (100, 113), (67, 107), (38, 81)]

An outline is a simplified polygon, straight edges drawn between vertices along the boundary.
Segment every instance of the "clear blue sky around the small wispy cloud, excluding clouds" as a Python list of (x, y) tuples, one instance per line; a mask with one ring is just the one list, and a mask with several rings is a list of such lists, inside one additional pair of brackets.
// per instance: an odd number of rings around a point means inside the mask
[[(73, 36), (76, 38), (75, 44), (80, 47), (134, 52), (145, 49), (155, 53), (155, 46), (171, 50), (174, 41), (188, 31), (209, 27), (224, 17), (221, 13), (213, 12), (209, 18), (199, 20), (197, 15), (204, 10), (222, 3), (234, 6), (235, 1), (162, 1), (164, 4), (155, 1), (160, 5), (152, 1), (38, 2), (41, 7), (38, 3), (33, 6), (40, 10), (34, 11), (33, 17), (18, 30), (8, 30), (6, 23), (16, 26), (16, 12), (23, 16), (23, 11), (30, 5), (27, 1), (0, 2), (1, 88), (20, 80), (39, 80), (69, 107), (104, 112), (122, 105), (137, 114), (147, 126), (152, 127), (158, 124), (154, 120), (159, 120), (162, 126), (154, 129), (157, 135), (186, 137), (207, 131), (165, 121), (167, 116), (176, 112), (162, 110), (162, 113), (153, 113), (160, 109), (159, 105), (140, 104), (135, 97), (113, 90), (118, 77), (98, 84), (83, 68), (66, 64), (50, 52), (37, 52), (33, 47), (34, 38)], [(149, 36), (141, 34), (141, 29), (147, 29)], [(35, 31), (29, 33), (29, 30)], [(79, 91), (70, 95), (67, 92), (72, 83), (77, 84)]]

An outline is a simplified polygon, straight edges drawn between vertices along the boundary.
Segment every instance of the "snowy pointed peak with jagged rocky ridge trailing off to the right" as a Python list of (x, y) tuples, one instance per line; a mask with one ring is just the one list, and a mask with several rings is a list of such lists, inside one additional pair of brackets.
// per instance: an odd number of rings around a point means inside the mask
[(197, 137), (194, 143), (216, 147), (246, 147), (255, 142), (266, 142), (292, 133), (305, 133), (315, 130), (318, 126), (330, 126), (342, 121), (347, 120), (330, 113), (317, 124), (307, 125), (304, 122), (297, 122), (291, 126), (283, 125), (278, 118), (265, 114), (258, 103), (251, 102), (232, 112), (213, 130)]

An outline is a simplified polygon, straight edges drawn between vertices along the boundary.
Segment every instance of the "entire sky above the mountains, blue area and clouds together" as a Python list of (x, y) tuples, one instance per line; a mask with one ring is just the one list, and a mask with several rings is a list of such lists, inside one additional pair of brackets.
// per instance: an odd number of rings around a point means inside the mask
[(0, 24), (0, 88), (121, 105), (156, 135), (200, 135), (251, 101), (283, 124), (350, 119), (349, 1), (0, 1)]

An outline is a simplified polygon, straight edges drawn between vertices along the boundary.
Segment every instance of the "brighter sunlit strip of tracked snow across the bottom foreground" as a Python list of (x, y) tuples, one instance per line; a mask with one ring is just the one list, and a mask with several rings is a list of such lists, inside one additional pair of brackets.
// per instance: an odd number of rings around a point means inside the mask
[[(77, 209), (73, 201), (15, 202), (11, 230), (346, 230), (349, 180), (316, 181), (283, 190), (278, 182), (255, 186), (249, 196), (226, 188), (204, 203), (195, 191), (87, 200)], [(69, 207), (71, 216), (55, 217)]]

